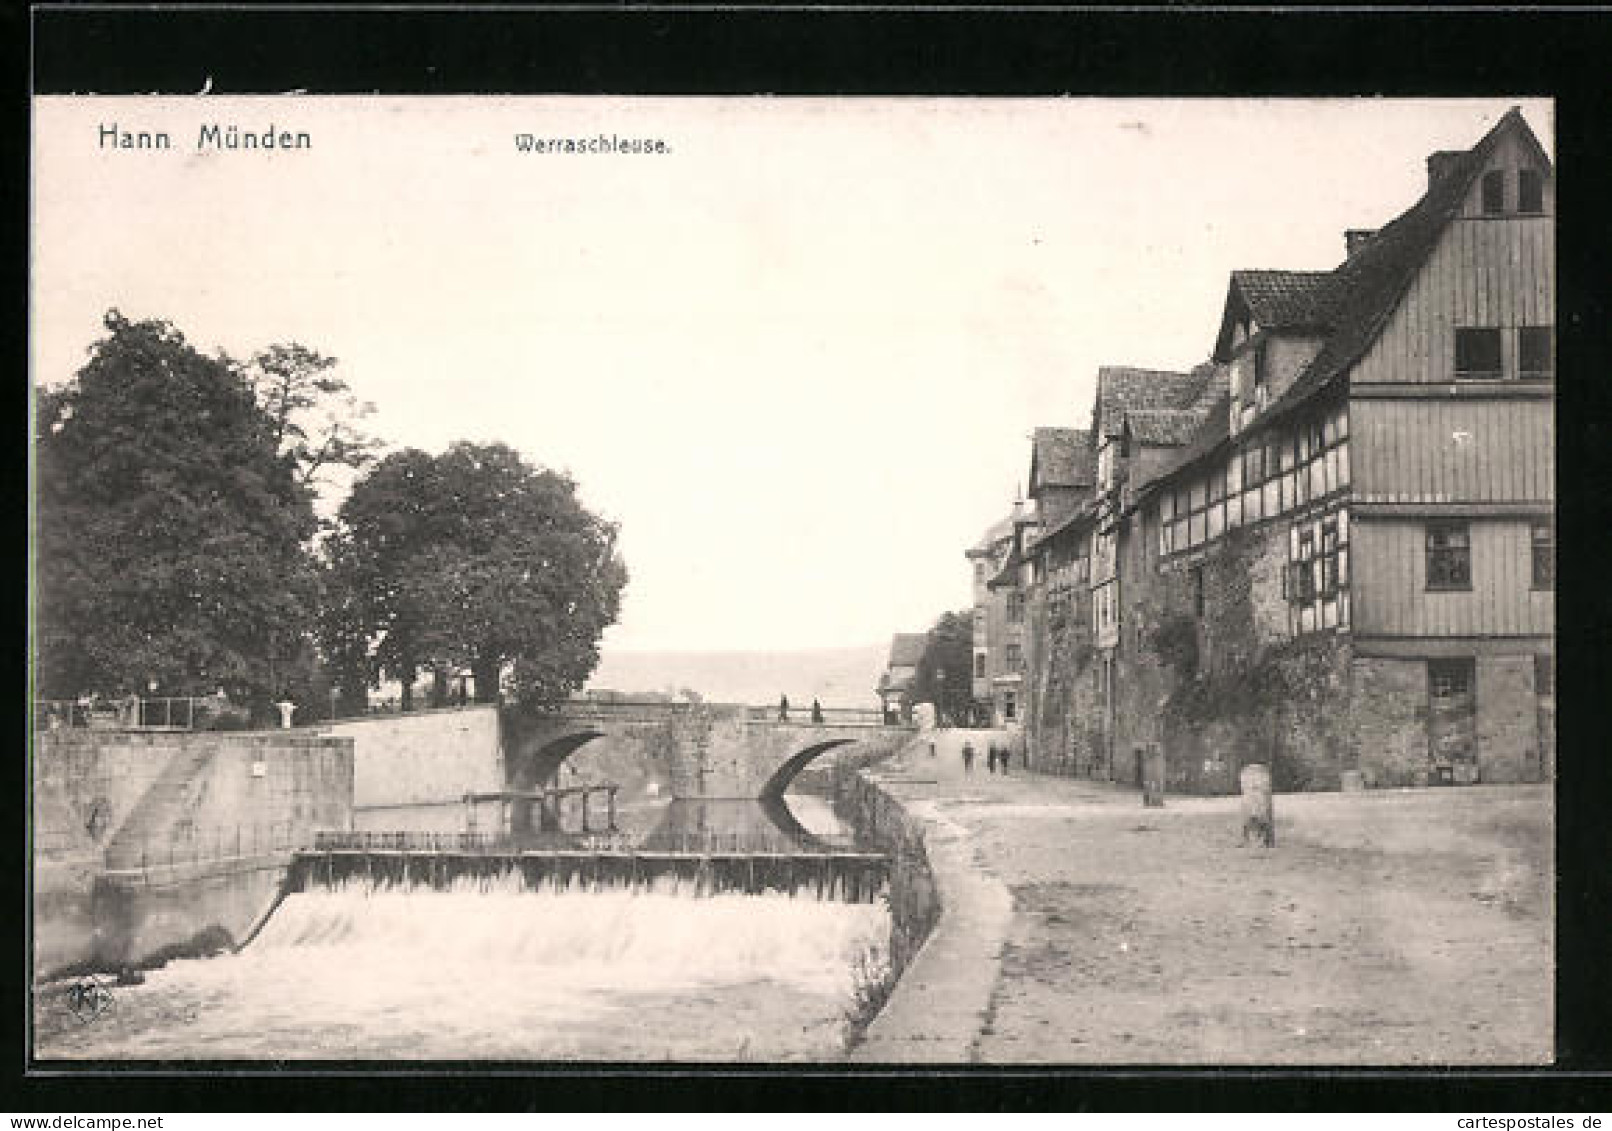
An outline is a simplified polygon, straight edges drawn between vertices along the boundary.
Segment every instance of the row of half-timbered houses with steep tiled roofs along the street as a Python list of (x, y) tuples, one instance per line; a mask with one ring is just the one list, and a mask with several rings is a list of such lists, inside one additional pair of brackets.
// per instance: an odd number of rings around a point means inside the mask
[(1343, 250), (1232, 272), (1191, 374), (1099, 372), (1095, 482), (998, 569), (1038, 768), (1135, 781), (1159, 743), (1196, 791), (1249, 762), (1282, 788), (1552, 775), (1551, 161), (1512, 111)]

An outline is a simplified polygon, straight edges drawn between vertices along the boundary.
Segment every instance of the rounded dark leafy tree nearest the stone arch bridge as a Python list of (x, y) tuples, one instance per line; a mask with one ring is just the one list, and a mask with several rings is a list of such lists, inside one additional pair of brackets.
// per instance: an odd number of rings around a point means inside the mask
[(484, 702), (509, 667), (517, 701), (553, 702), (598, 664), (627, 572), (571, 478), (498, 443), (406, 450), (355, 485), (342, 524), (374, 662), (405, 707), (422, 667), (469, 667)]

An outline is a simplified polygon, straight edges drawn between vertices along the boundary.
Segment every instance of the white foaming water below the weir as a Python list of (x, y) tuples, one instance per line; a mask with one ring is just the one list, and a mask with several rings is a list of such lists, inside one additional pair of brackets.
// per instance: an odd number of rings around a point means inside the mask
[[(289, 896), (242, 952), (114, 989), (40, 1057), (832, 1058), (883, 902), (347, 884)], [(648, 1018), (653, 1018), (648, 1020)]]

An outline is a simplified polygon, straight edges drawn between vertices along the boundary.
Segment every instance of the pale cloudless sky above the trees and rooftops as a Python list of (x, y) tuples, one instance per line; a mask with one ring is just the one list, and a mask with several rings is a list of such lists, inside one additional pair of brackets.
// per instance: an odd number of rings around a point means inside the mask
[[(34, 377), (113, 306), (300, 342), (392, 446), (579, 480), (632, 572), (606, 649), (866, 644), (969, 604), (1098, 366), (1203, 361), (1230, 271), (1335, 266), (1510, 105), (1552, 150), (1528, 98), (40, 98)], [(197, 153), (205, 122), (313, 148)]]

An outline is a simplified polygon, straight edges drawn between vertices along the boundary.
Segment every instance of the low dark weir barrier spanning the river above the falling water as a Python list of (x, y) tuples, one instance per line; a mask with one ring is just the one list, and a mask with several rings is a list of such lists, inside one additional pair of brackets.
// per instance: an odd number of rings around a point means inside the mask
[(298, 851), (285, 878), (285, 894), (351, 884), (437, 891), (492, 891), (514, 884), (524, 891), (634, 889), (693, 897), (780, 893), (867, 904), (879, 899), (890, 878), (888, 859), (877, 852), (563, 849), (496, 841), (418, 846), (403, 838), (393, 843), (376, 839), (379, 843), (342, 844), (329, 838), (313, 849)]

